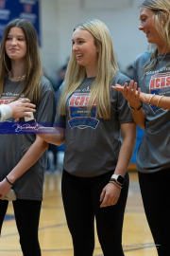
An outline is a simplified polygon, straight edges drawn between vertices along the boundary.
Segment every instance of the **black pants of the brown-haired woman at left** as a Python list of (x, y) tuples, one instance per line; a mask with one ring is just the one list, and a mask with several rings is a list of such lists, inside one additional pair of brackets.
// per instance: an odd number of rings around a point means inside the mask
[[(17, 199), (12, 203), (23, 255), (41, 256), (38, 229), (42, 201)], [(0, 231), (7, 209), (8, 201), (0, 200)]]

